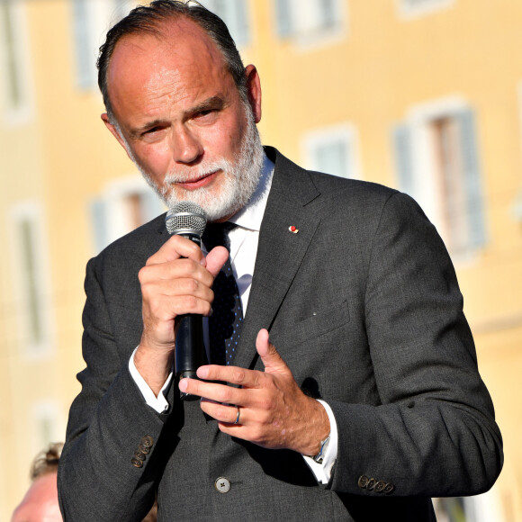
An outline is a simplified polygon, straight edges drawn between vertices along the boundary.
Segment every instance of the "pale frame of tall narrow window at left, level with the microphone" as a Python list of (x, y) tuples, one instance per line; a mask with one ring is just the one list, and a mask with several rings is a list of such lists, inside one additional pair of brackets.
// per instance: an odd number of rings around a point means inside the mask
[[(18, 327), (18, 338), (23, 354), (30, 359), (47, 358), (54, 353), (54, 323), (49, 267), (49, 251), (43, 207), (40, 202), (16, 203), (9, 211), (9, 235), (11, 243), (11, 265), (14, 279), (14, 310)], [(36, 285), (36, 300), (40, 318), (40, 340), (34, 341), (27, 332), (31, 329), (29, 287), (23, 272), (23, 238), (19, 226), (23, 220), (31, 221), (33, 238), (33, 266)]]

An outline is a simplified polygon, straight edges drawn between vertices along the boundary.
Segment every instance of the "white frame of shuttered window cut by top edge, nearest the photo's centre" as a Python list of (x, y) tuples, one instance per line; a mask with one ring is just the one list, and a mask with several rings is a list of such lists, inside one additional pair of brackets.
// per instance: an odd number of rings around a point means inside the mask
[[(279, 1), (281, 0), (273, 0), (274, 3)], [(317, 9), (320, 0), (285, 1), (288, 2), (292, 27), (288, 33), (281, 33), (280, 22), (278, 20), (279, 7), (275, 4), (275, 27), (279, 38), (292, 40), (293, 43), (302, 50), (333, 45), (346, 38), (349, 17), (348, 3), (346, 0), (334, 0), (334, 18), (336, 18), (338, 22), (331, 27), (318, 27), (316, 24), (319, 19)]]

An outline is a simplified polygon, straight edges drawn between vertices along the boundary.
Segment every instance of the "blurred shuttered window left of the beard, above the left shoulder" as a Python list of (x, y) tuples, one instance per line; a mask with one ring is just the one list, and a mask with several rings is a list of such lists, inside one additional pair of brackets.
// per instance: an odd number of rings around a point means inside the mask
[(90, 203), (96, 253), (165, 210), (164, 203), (140, 177), (111, 182), (102, 196)]

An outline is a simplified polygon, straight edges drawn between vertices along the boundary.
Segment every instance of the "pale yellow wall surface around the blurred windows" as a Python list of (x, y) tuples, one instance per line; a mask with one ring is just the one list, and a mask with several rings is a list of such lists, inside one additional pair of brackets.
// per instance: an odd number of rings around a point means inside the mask
[[(489, 241), (456, 268), (505, 438), (506, 465), (493, 489), (501, 504), (498, 519), (520, 521), (522, 224), (511, 208), (522, 188), (522, 4), (455, 0), (404, 20), (397, 1), (346, 0), (347, 24), (338, 40), (302, 45), (277, 38), (273, 2), (250, 0), (252, 40), (243, 54), (261, 75), (260, 129), (266, 143), (302, 162), (307, 131), (349, 121), (358, 134), (363, 177), (396, 185), (392, 127), (410, 108), (452, 95), (473, 107)], [(10, 398), (0, 413), (0, 442), (12, 448), (0, 472), (0, 520), (8, 519), (28, 485), (36, 450), (27, 433), (31, 402), (56, 398), (65, 419), (78, 390), (82, 284), (93, 254), (88, 202), (112, 177), (134, 171), (99, 120), (100, 96), (75, 87), (70, 3), (29, 5), (35, 115), (23, 128), (0, 124), (0, 241), (7, 244), (4, 209), (29, 196), (44, 202), (56, 351), (39, 364), (19, 355), (13, 318), (5, 312), (14, 299), (10, 266), (0, 257), (0, 392)]]

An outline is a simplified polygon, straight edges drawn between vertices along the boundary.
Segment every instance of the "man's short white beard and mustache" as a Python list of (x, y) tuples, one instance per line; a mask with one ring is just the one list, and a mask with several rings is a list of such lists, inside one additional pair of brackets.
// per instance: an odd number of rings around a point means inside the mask
[(185, 173), (175, 171), (166, 173), (163, 186), (159, 186), (133, 159), (141, 175), (168, 208), (172, 208), (177, 202), (194, 202), (205, 211), (207, 220), (215, 221), (234, 215), (247, 204), (259, 183), (265, 152), (250, 105), (244, 103), (244, 106), (247, 113), (247, 130), (234, 160), (218, 159), (207, 163), (203, 160), (201, 165), (191, 167), (191, 175), (195, 173), (194, 177), (220, 170), (223, 179), (219, 189), (201, 187), (186, 190), (179, 186), (174, 188), (175, 183), (183, 183), (186, 179)]

